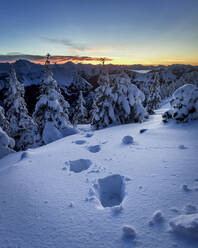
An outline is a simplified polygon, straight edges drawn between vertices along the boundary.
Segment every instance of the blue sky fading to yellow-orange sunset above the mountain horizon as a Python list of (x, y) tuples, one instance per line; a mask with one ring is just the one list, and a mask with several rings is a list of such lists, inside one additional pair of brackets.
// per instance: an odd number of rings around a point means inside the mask
[[(198, 0), (0, 0), (0, 62), (198, 64)], [(34, 56), (33, 56), (34, 55)]]

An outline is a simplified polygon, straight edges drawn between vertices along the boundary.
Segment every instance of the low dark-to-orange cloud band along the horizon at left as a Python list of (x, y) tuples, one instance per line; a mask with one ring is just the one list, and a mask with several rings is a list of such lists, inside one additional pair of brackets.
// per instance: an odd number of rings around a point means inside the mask
[[(34, 63), (40, 63), (44, 64), (46, 60), (46, 56), (41, 56), (41, 55), (31, 55), (31, 54), (0, 54), (0, 62), (14, 62), (19, 59), (26, 59)], [(106, 61), (112, 61), (111, 58), (105, 58)], [(51, 56), (50, 59), (51, 63), (57, 63), (57, 64), (63, 64), (69, 61), (72, 61), (74, 63), (79, 63), (79, 62), (99, 62), (101, 61), (100, 57), (91, 57), (91, 56)]]

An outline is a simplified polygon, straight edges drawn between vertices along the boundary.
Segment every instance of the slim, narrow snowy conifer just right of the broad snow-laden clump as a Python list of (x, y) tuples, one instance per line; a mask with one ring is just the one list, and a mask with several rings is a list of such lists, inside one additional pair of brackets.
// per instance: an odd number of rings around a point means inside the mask
[(150, 94), (147, 102), (147, 111), (150, 114), (154, 113), (155, 109), (160, 107), (161, 96), (160, 96), (160, 75), (157, 72), (154, 76), (154, 81), (150, 86)]

